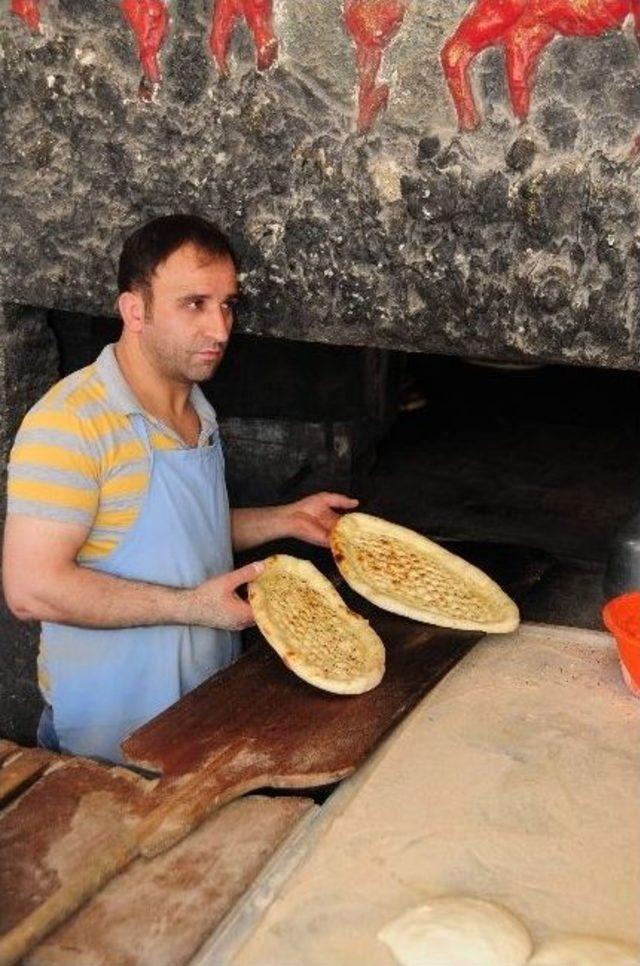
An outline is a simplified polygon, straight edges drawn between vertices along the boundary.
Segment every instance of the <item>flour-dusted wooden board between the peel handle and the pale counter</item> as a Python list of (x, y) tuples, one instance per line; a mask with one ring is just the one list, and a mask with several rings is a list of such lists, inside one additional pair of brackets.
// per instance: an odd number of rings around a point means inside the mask
[(27, 957), (29, 966), (180, 966), (235, 905), (310, 799), (231, 802), (155, 859), (137, 859)]

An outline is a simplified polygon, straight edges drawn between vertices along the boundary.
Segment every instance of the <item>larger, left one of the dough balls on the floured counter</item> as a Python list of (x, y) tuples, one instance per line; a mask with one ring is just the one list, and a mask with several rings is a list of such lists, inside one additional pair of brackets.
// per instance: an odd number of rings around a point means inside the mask
[(387, 923), (378, 939), (402, 966), (524, 966), (531, 937), (507, 909), (445, 896)]

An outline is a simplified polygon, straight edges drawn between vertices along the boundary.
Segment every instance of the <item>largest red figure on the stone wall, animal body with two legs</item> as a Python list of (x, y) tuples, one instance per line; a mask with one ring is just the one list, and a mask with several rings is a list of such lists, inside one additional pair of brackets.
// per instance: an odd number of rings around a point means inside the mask
[(640, 34), (638, 0), (477, 0), (441, 52), (444, 74), (463, 131), (480, 123), (469, 80), (474, 57), (502, 44), (509, 96), (516, 117), (529, 113), (535, 70), (556, 34), (600, 37), (633, 14)]

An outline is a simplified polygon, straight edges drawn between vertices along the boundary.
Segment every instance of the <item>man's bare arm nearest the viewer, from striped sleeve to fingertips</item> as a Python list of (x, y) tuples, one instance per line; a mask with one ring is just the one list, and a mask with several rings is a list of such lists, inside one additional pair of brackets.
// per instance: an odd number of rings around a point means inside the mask
[(87, 532), (78, 524), (7, 518), (2, 576), (16, 617), (103, 628), (196, 624), (241, 630), (254, 623), (251, 607), (236, 589), (257, 576), (261, 563), (194, 588), (124, 580), (76, 563)]

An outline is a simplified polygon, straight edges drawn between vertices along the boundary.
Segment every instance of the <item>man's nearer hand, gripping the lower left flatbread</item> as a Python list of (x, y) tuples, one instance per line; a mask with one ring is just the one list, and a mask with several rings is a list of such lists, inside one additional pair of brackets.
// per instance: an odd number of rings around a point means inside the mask
[(251, 605), (239, 596), (237, 590), (263, 570), (264, 564), (259, 561), (205, 580), (191, 591), (189, 623), (228, 631), (241, 631), (255, 624)]

